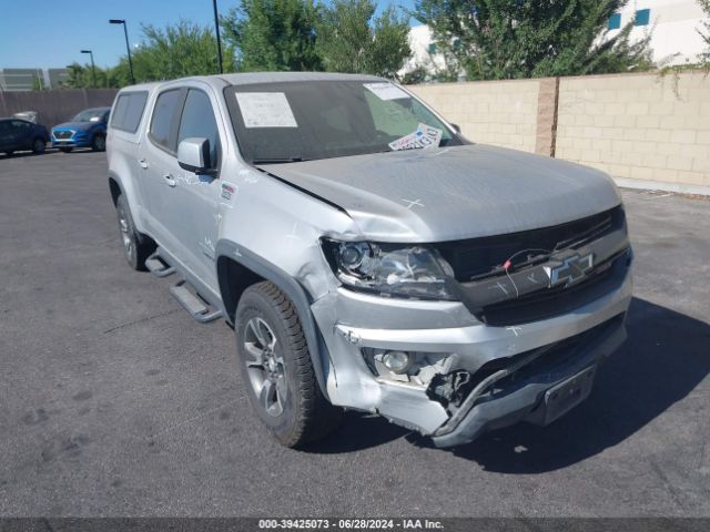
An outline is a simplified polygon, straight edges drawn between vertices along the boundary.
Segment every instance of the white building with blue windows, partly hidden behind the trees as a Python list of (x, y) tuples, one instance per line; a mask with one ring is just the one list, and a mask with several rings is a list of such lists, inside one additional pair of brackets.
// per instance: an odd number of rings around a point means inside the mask
[[(698, 29), (704, 13), (697, 0), (630, 0), (608, 22), (610, 35), (617, 34), (629, 22), (633, 23), (631, 39), (651, 34), (653, 62), (659, 66), (698, 62), (704, 42)], [(399, 71), (400, 75), (423, 68), (434, 74), (445, 66), (444, 57), (436, 50), (432, 30), (427, 25), (409, 29), (412, 58)]]

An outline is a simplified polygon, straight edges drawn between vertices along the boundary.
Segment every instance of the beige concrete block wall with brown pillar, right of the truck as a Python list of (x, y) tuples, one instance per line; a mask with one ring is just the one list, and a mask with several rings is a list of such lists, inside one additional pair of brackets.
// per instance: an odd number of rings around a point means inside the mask
[(595, 166), (622, 184), (710, 192), (710, 74), (706, 72), (408, 89), (459, 124), (474, 142)]

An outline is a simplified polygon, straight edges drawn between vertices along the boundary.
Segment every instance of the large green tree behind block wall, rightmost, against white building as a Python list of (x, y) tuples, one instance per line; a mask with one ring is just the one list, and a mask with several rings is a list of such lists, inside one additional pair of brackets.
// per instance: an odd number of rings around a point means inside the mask
[(609, 18), (628, 0), (418, 0), (415, 17), (470, 80), (648, 70), (650, 35), (631, 42)]

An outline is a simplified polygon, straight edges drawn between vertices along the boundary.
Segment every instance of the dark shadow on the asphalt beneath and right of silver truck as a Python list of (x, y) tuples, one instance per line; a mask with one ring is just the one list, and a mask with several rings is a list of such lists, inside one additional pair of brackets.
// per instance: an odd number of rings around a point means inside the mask
[[(567, 416), (549, 427), (518, 423), (440, 452), (500, 473), (560, 469), (626, 440), (687, 397), (710, 374), (710, 325), (635, 298), (627, 328), (627, 342), (601, 366), (591, 396)], [(383, 418), (356, 412), (345, 416), (339, 430), (308, 450), (353, 452), (403, 436), (413, 444), (433, 447), (430, 440)]]

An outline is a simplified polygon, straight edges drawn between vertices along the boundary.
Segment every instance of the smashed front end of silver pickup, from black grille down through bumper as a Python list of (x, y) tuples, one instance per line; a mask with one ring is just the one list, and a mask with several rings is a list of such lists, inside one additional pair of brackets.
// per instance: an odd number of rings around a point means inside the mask
[(598, 364), (626, 338), (632, 253), (622, 207), (425, 248), (416, 252), (424, 269), (402, 272), (408, 297), (394, 282), (338, 276), (349, 286), (313, 304), (332, 402), (452, 447), (521, 420), (547, 424), (589, 395)]

